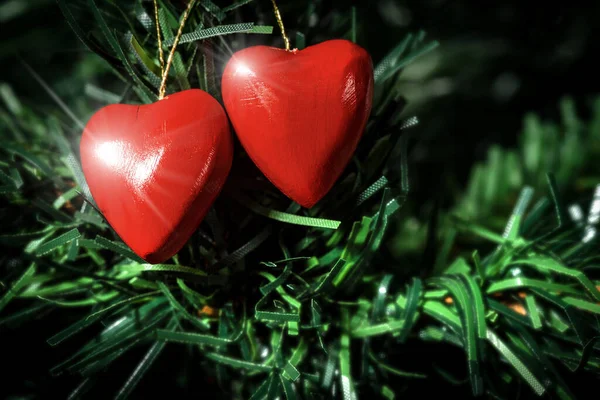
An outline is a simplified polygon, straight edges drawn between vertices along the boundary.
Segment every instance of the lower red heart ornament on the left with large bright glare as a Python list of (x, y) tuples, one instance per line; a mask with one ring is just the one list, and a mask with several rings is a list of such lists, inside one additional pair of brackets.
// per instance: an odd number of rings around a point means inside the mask
[(80, 148), (98, 208), (150, 263), (186, 243), (219, 194), (233, 156), (225, 111), (197, 89), (148, 105), (102, 108), (85, 127)]

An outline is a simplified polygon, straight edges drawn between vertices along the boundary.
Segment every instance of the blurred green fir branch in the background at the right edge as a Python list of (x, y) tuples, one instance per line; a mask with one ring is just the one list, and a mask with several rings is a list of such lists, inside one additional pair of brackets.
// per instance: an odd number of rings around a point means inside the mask
[(577, 116), (571, 98), (561, 101), (560, 111), (560, 123), (543, 122), (536, 114), (525, 116), (517, 150), (492, 146), (487, 160), (473, 167), (456, 214), (475, 221), (498, 215), (510, 207), (523, 185), (538, 192), (544, 188), (548, 173), (561, 189), (593, 188), (599, 173), (594, 161), (600, 157), (600, 98), (592, 104), (589, 122)]

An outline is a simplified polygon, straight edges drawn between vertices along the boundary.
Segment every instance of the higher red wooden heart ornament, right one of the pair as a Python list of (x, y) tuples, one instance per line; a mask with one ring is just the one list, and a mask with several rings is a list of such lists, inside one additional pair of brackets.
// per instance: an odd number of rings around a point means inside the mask
[(299, 51), (249, 47), (227, 63), (222, 93), (250, 158), (279, 190), (310, 208), (331, 189), (362, 136), (373, 65), (346, 40)]

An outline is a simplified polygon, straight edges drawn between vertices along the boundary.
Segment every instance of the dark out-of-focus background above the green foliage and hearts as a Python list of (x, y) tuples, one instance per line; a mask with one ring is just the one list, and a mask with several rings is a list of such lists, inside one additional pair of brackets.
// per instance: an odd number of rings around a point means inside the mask
[[(255, 3), (241, 8), (241, 18), (276, 25), (270, 2)], [(462, 176), (490, 143), (515, 142), (525, 112), (552, 118), (562, 96), (572, 95), (585, 103), (600, 88), (598, 2), (513, 0), (488, 1), (483, 6), (461, 0), (324, 0), (316, 1), (313, 17), (308, 17), (309, 1), (280, 3), (290, 36), (293, 39), (300, 29), (307, 34), (307, 44), (345, 34), (338, 27), (347, 22), (355, 4), (358, 42), (374, 62), (407, 32), (422, 29), (428, 38), (438, 40), (441, 46), (435, 52), (405, 71), (411, 104), (407, 113), (421, 120), (423, 149), (417, 157), (427, 159), (431, 167), (457, 168)], [(85, 78), (100, 87), (114, 81), (106, 69), (99, 73), (102, 61), (77, 40), (54, 1), (0, 4), (0, 80), (10, 82), (21, 98), (37, 107), (51, 102), (17, 54), (67, 103), (70, 96), (81, 95)], [(7, 12), (21, 8), (13, 17)], [(278, 44), (277, 34), (276, 29), (272, 38), (261, 35), (249, 40)], [(75, 80), (73, 74), (84, 79)]]

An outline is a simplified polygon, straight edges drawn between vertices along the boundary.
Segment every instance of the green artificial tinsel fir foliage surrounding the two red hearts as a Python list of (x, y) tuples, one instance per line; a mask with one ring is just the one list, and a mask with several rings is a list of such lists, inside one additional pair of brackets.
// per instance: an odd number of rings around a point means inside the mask
[[(128, 89), (117, 95), (88, 85), (81, 114), (90, 114), (94, 101), (155, 99), (159, 63), (147, 3), (58, 1), (75, 33)], [(180, 11), (159, 3), (169, 42)], [(218, 96), (216, 71), (226, 60), (216, 61), (215, 54), (229, 55), (221, 36), (268, 32), (254, 22), (232, 21), (246, 3), (198, 1), (176, 52), (170, 91), (200, 87)], [(297, 38), (305, 39), (302, 33)], [(514, 397), (516, 388), (503, 382), (519, 381), (538, 395), (572, 398), (558, 368), (600, 368), (599, 283), (587, 272), (598, 257), (593, 233), (600, 199), (592, 200), (588, 222), (578, 224), (566, 217), (553, 179), (549, 189), (543, 183), (547, 168), (563, 186), (585, 177), (586, 160), (597, 154), (587, 144), (598, 143), (600, 113), (583, 125), (567, 102), (564, 139), (553, 125), (529, 117), (522, 154), (492, 149), (491, 163), (474, 172), (473, 185), (479, 186), (469, 189), (459, 208), (466, 210), (463, 217), (479, 218), (498, 215), (496, 202), (516, 203), (504, 231), (455, 218), (433, 239), (393, 239), (418, 241), (430, 262), (396, 261), (383, 243), (410, 201), (408, 128), (417, 123), (401, 116), (398, 77), (435, 45), (423, 33), (409, 34), (376, 63), (374, 112), (365, 136), (316, 207), (290, 203), (255, 171), (234, 171), (233, 183), (190, 242), (160, 265), (133, 254), (95, 209), (73, 150), (81, 129), (75, 114), (34, 111), (8, 85), (0, 86), (0, 127), (7, 132), (0, 150), (1, 196), (8, 204), (0, 243), (20, 261), (3, 277), (0, 327), (24, 324), (42, 307), (79, 313), (78, 321), (47, 339), (63, 346), (87, 338), (51, 370), (81, 377), (74, 397), (91, 390), (99, 372), (118, 368), (130, 350), (144, 348), (113, 393), (127, 397), (159, 355), (175, 346), (185, 346), (198, 370), (194, 375), (215, 377), (226, 397), (333, 394), (350, 400), (375, 392), (394, 398), (414, 380), (456, 381), (455, 371), (413, 369), (403, 359), (418, 342), (461, 349), (465, 357), (458, 364), (468, 371), (474, 395)], [(587, 155), (575, 157), (575, 150)], [(236, 157), (245, 160), (241, 150)], [(538, 189), (533, 207), (529, 187), (516, 199), (525, 183)], [(440, 250), (427, 246), (438, 236)], [(487, 245), (482, 257), (456, 245), (462, 236)]]

